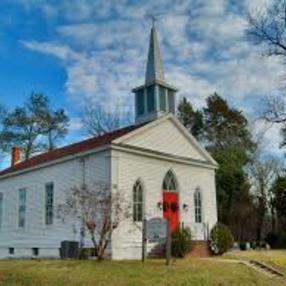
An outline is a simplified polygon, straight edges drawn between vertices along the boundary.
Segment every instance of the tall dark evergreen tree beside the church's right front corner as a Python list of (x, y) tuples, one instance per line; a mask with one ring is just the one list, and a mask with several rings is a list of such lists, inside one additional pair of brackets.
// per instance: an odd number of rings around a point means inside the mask
[[(203, 116), (206, 147), (219, 164), (216, 172), (219, 220), (231, 225), (235, 237), (242, 237), (238, 213), (241, 211), (240, 218), (243, 219), (245, 210), (242, 204), (240, 210), (236, 206), (242, 192), (244, 201), (247, 201), (250, 186), (245, 166), (255, 146), (247, 128), (248, 121), (241, 111), (231, 108), (217, 93), (207, 98)], [(251, 209), (254, 206), (246, 207)]]

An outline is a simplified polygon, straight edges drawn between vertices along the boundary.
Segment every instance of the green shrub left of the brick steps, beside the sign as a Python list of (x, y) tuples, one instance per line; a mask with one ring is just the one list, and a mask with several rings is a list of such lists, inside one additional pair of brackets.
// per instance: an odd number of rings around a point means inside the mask
[(189, 228), (180, 228), (172, 235), (172, 255), (183, 258), (192, 250), (192, 234)]

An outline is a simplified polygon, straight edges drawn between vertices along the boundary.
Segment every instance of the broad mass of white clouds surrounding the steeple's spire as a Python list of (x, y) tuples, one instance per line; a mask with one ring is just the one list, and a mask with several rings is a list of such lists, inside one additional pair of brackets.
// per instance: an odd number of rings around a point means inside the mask
[[(26, 5), (31, 1), (26, 0)], [(153, 12), (160, 19), (166, 78), (180, 88), (179, 96), (188, 96), (199, 107), (210, 93), (218, 91), (253, 114), (257, 107), (249, 105), (248, 99), (274, 92), (284, 72), (278, 59), (261, 57), (258, 47), (244, 36), (246, 12), (260, 9), (266, 1), (241, 2), (244, 14), (229, 9), (232, 2), (227, 0), (132, 4), (63, 0), (56, 10), (43, 1), (37, 5), (43, 15), (60, 17), (64, 24), (56, 27), (52, 42), (23, 44), (64, 63), (65, 87), (73, 100), (132, 105), (130, 90), (144, 80), (150, 26), (146, 15)]]

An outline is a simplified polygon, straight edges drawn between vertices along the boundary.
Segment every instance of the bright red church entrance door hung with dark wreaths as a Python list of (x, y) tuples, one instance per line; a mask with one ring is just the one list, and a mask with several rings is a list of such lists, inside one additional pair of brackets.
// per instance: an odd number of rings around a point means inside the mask
[(163, 216), (170, 223), (171, 233), (179, 228), (179, 194), (163, 191)]

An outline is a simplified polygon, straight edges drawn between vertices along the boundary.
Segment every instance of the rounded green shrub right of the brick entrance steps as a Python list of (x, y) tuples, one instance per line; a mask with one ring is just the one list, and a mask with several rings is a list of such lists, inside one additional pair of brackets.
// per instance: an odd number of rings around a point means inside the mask
[(211, 230), (210, 249), (213, 254), (221, 255), (233, 245), (233, 236), (227, 226), (217, 223)]

